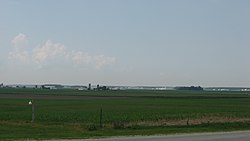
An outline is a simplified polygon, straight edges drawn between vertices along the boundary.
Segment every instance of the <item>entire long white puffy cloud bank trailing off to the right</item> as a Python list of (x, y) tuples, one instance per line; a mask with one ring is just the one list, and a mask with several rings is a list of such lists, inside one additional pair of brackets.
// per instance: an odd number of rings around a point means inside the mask
[(105, 55), (90, 55), (82, 51), (67, 50), (62, 43), (56, 43), (51, 40), (47, 40), (42, 46), (28, 50), (25, 47), (26, 42), (27, 37), (22, 33), (14, 37), (11, 41), (13, 49), (9, 53), (9, 59), (38, 64), (41, 67), (53, 59), (61, 58), (62, 60), (70, 61), (74, 66), (88, 65), (96, 69), (112, 65), (116, 60), (114, 57)]

